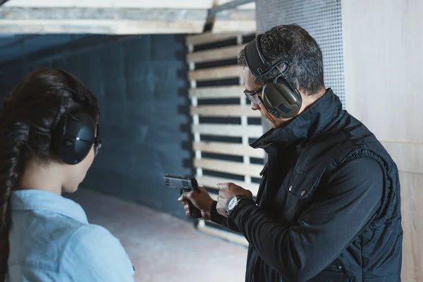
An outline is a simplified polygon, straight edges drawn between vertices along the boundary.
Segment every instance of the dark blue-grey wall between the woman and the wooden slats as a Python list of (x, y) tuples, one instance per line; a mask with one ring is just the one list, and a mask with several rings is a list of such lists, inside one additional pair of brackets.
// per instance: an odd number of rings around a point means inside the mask
[(102, 111), (102, 151), (82, 187), (185, 218), (163, 184), (166, 173), (192, 173), (185, 53), (183, 35), (85, 38), (0, 65), (0, 91), (39, 66), (75, 73)]

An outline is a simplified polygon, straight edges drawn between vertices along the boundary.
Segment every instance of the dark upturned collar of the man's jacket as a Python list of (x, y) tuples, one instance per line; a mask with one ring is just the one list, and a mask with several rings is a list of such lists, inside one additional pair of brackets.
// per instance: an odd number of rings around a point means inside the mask
[(250, 146), (266, 149), (275, 143), (287, 146), (307, 143), (341, 118), (342, 111), (341, 100), (328, 88), (322, 97), (284, 128), (272, 128)]

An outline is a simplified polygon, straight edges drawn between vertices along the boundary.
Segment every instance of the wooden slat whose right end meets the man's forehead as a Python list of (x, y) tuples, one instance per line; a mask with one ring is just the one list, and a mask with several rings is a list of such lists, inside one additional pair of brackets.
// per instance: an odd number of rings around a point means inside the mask
[(189, 80), (217, 80), (222, 78), (240, 78), (243, 68), (240, 66), (220, 66), (217, 68), (204, 68), (188, 73)]

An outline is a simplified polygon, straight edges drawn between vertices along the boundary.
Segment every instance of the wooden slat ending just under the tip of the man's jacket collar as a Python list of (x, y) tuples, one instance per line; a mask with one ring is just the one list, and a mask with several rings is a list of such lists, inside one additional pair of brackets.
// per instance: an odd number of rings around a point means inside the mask
[(215, 154), (230, 154), (234, 156), (264, 158), (263, 149), (253, 149), (249, 145), (243, 144), (224, 142), (192, 142), (192, 148), (194, 150)]

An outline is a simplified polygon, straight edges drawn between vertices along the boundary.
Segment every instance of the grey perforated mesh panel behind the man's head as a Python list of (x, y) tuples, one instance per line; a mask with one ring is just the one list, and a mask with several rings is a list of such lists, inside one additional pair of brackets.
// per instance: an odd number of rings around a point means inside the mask
[[(321, 48), (324, 82), (345, 108), (341, 0), (256, 0), (257, 32), (276, 25), (297, 23)], [(267, 130), (269, 123), (264, 123)]]

